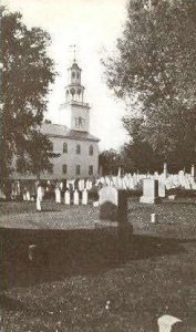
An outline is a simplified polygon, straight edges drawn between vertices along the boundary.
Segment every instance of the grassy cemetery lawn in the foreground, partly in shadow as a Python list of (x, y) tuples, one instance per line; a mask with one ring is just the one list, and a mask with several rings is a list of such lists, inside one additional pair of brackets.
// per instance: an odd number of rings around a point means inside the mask
[[(154, 332), (163, 314), (196, 331), (194, 199), (130, 198), (134, 236), (121, 255), (113, 239), (89, 240), (99, 215), (92, 205), (47, 201), (42, 212), (34, 203), (0, 205), (0, 332)], [(85, 230), (68, 237), (69, 225)], [(28, 258), (31, 243), (35, 261)]]

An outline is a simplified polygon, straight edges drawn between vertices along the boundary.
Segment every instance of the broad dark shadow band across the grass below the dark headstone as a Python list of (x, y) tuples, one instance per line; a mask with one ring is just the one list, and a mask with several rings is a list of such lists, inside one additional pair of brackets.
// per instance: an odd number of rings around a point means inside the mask
[[(0, 229), (1, 290), (62, 280), (63, 277), (99, 274), (132, 260), (185, 252), (184, 242), (149, 236), (133, 236), (118, 242), (106, 231)], [(29, 259), (29, 245), (35, 245)]]

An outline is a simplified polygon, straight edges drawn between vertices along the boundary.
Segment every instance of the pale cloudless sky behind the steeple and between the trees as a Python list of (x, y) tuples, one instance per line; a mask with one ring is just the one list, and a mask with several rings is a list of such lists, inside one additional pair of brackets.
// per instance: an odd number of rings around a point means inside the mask
[(126, 0), (2, 0), (12, 11), (19, 10), (29, 27), (41, 27), (52, 39), (50, 55), (59, 75), (51, 86), (45, 117), (65, 124), (64, 86), (68, 68), (76, 45), (76, 62), (82, 68), (85, 102), (90, 103), (90, 132), (97, 136), (100, 149), (118, 148), (127, 141), (122, 125), (125, 105), (106, 86), (101, 58), (115, 49), (126, 19)]

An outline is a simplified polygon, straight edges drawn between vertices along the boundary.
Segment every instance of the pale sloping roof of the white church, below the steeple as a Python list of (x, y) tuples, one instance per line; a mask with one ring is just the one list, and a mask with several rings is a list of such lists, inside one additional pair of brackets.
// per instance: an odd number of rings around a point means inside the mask
[(100, 139), (87, 132), (79, 132), (79, 131), (71, 131), (65, 125), (60, 124), (52, 124), (52, 123), (43, 123), (41, 126), (41, 132), (44, 135), (51, 137), (64, 137), (70, 139), (78, 139), (78, 141), (94, 141), (99, 142)]

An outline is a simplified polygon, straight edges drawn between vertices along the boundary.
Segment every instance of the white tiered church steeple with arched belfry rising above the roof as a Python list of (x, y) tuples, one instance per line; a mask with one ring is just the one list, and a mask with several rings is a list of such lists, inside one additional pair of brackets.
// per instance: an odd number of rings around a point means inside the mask
[(68, 69), (68, 85), (65, 86), (65, 107), (71, 111), (71, 129), (89, 132), (90, 106), (84, 103), (84, 86), (81, 84), (82, 70), (75, 61)]

